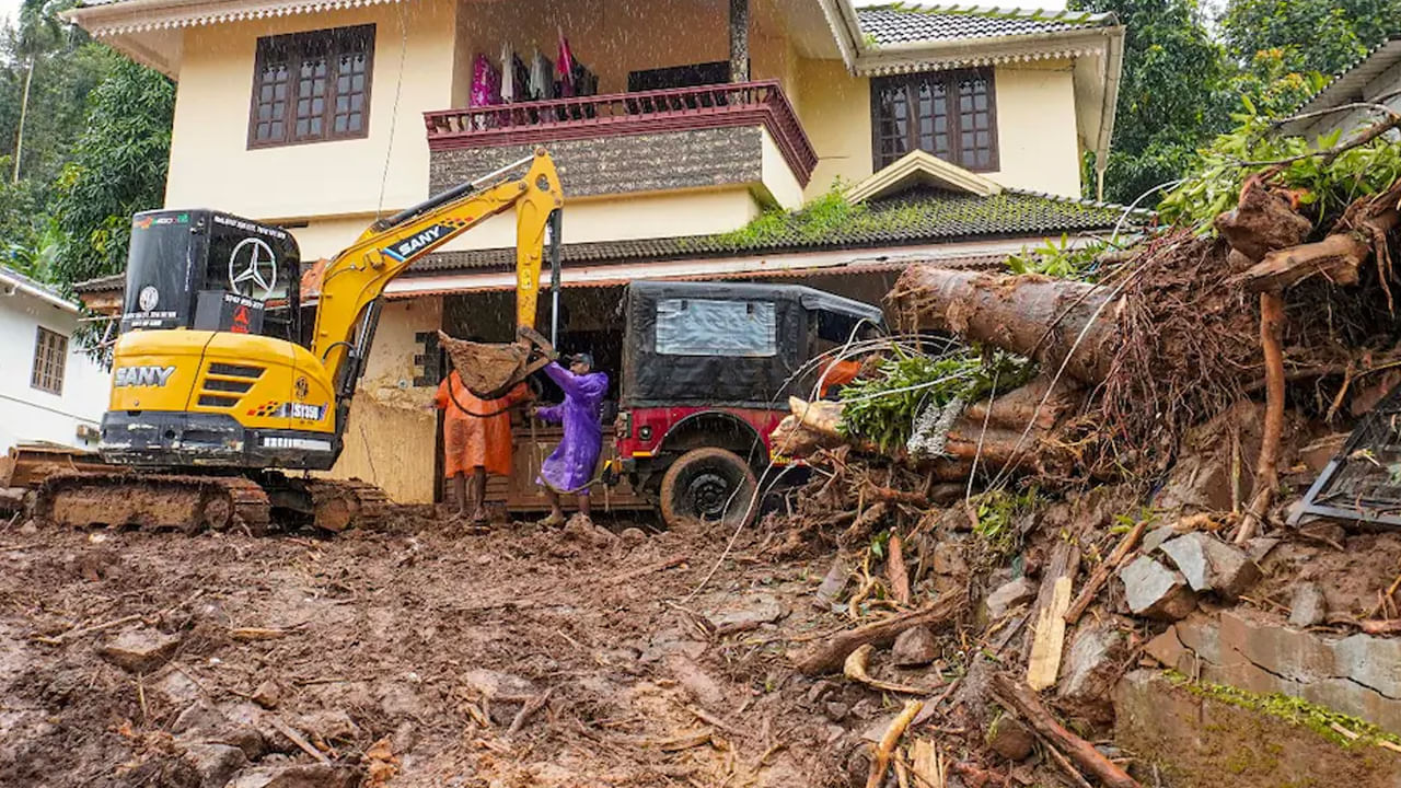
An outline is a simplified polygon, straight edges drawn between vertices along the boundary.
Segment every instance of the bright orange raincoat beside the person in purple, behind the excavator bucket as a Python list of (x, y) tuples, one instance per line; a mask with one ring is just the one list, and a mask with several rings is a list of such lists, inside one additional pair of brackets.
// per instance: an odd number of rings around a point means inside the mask
[[(453, 387), (448, 395), (448, 386)], [(461, 402), (474, 416), (457, 407)], [(462, 384), (454, 372), (439, 384), (433, 402), (446, 411), (443, 421), (443, 473), (447, 477), (486, 468), (497, 477), (511, 475), (511, 415), (506, 409), (530, 398), (525, 384), (517, 384), (499, 400), (481, 400)], [(497, 411), (502, 411), (497, 414)]]

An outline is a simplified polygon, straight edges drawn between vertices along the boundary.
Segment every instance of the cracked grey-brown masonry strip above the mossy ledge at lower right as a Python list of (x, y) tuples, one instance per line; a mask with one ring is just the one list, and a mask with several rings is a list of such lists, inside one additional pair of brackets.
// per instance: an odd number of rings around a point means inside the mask
[(1401, 639), (1325, 637), (1223, 610), (1178, 621), (1146, 651), (1202, 681), (1303, 698), (1401, 733)]

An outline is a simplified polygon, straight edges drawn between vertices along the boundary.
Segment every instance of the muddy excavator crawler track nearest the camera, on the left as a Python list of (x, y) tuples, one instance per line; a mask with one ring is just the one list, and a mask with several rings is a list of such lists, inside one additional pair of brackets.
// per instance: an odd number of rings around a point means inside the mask
[(272, 503), (244, 477), (116, 473), (53, 474), (39, 485), (34, 516), (59, 526), (134, 526), (185, 533), (245, 527), (268, 531)]

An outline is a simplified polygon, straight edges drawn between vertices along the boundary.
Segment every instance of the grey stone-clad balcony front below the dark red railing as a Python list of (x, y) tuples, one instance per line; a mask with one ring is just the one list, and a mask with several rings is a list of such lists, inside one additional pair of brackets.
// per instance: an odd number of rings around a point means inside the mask
[[(598, 136), (541, 143), (555, 158), (566, 199), (758, 184), (759, 126)], [(439, 150), (429, 165), (439, 193), (530, 156), (535, 144)]]

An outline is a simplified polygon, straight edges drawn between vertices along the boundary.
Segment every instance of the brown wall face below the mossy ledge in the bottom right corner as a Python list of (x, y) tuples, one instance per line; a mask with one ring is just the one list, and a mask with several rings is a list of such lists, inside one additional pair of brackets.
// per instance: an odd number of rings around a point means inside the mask
[(1341, 746), (1307, 726), (1135, 670), (1114, 691), (1114, 743), (1143, 785), (1171, 788), (1401, 788), (1401, 754)]

